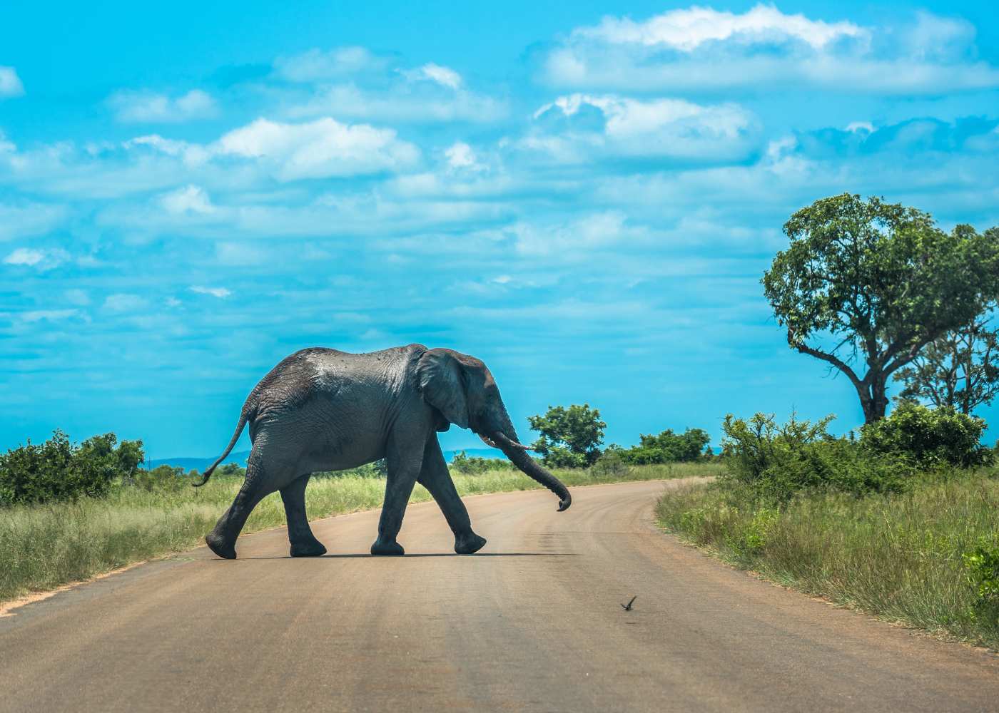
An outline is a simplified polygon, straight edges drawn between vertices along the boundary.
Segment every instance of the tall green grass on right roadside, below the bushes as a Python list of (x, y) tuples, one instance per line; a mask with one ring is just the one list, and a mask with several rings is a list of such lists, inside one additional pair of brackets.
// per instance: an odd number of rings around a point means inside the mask
[(962, 554), (999, 547), (997, 472), (927, 478), (905, 493), (812, 494), (782, 509), (725, 482), (670, 491), (660, 524), (781, 584), (970, 643), (999, 648)]

